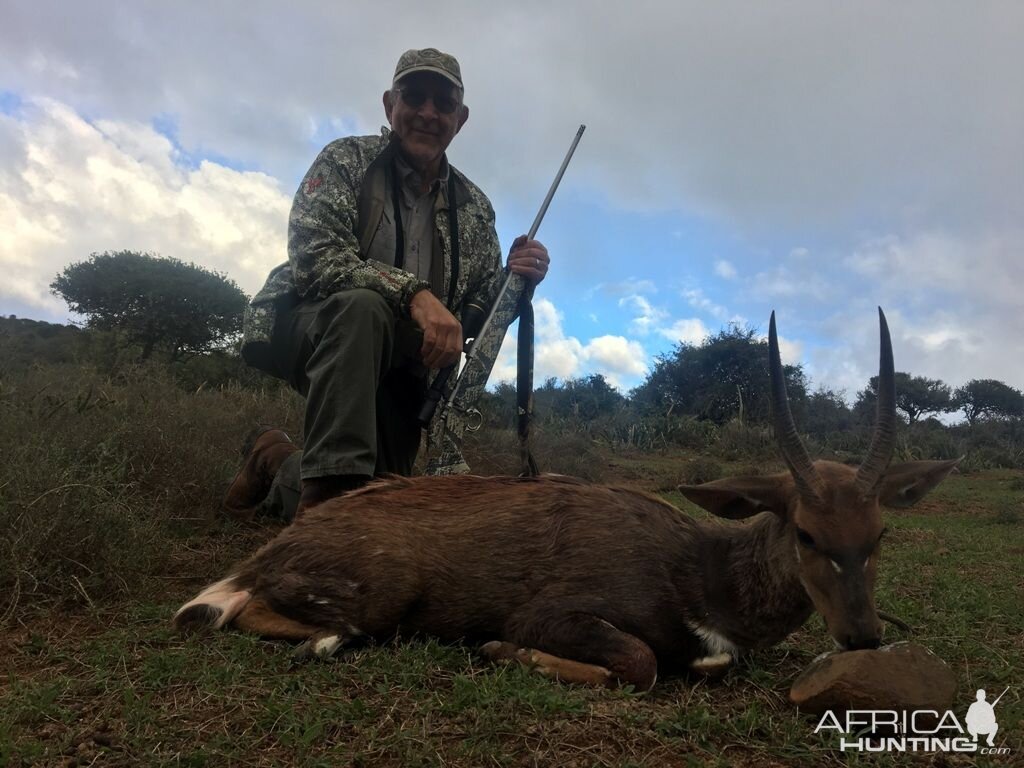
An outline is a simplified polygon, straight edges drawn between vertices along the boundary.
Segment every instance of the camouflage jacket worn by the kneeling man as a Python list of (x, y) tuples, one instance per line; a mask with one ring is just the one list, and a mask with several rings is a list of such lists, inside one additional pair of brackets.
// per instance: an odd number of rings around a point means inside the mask
[[(395, 316), (409, 316), (409, 302), (427, 283), (380, 261), (365, 258), (390, 193), (390, 166), (397, 144), (391, 132), (350, 136), (328, 144), (302, 179), (288, 223), (288, 261), (271, 270), (246, 311), (242, 355), (252, 366), (272, 370), (269, 344), (276, 313), (302, 300), (337, 291), (369, 288), (387, 301)], [(470, 304), (487, 307), (504, 272), (490, 202), (454, 167), (459, 259), (455, 263), (446, 207), (435, 226), (442, 260), (442, 295), (457, 317)], [(451, 201), (449, 202), (451, 204)]]

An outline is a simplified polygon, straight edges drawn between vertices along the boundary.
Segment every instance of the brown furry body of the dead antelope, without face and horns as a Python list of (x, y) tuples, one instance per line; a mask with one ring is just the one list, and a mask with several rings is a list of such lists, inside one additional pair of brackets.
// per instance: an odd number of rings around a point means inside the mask
[(606, 670), (645, 690), (658, 667), (721, 651), (718, 638), (777, 643), (814, 607), (793, 524), (807, 511), (787, 474), (682, 490), (727, 517), (771, 511), (721, 524), (566, 477), (395, 478), (308, 510), (222, 589), (250, 593), (234, 624), (269, 636), (499, 640), (586, 666), (542, 665), (556, 677)]

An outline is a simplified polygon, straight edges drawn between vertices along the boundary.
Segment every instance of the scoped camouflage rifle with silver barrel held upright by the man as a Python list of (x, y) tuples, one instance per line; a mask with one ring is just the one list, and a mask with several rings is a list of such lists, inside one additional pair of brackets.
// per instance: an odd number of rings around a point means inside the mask
[[(532, 240), (537, 234), (537, 230), (541, 227), (544, 214), (547, 213), (548, 206), (551, 204), (552, 198), (555, 197), (555, 190), (558, 188), (565, 169), (572, 159), (577, 144), (580, 143), (580, 139), (583, 137), (584, 130), (586, 130), (586, 126), (581, 125), (575, 137), (572, 139), (569, 151), (565, 155), (565, 159), (562, 161), (561, 167), (558, 169), (558, 173), (555, 175), (555, 180), (552, 182), (551, 188), (548, 189), (548, 195), (541, 205), (541, 210), (538, 211), (537, 217), (534, 219), (534, 224), (526, 234), (526, 240)], [(502, 341), (505, 338), (505, 331), (512, 321), (515, 319), (520, 302), (524, 298), (528, 302), (531, 293), (531, 288), (527, 286), (526, 281), (521, 275), (509, 271), (504, 283), (502, 283), (501, 290), (498, 292), (490, 311), (486, 313), (482, 322), (480, 321), (480, 317), (483, 315), (481, 307), (470, 306), (463, 312), (463, 329), (466, 336), (464, 346), (466, 362), (459, 373), (452, 391), (444, 398), (439, 417), (434, 419), (434, 412), (441, 401), (447, 381), (453, 371), (455, 371), (455, 366), (450, 366), (438, 372), (437, 376), (434, 377), (430, 390), (427, 392), (423, 407), (420, 409), (420, 423), (425, 427), (429, 425), (431, 430), (430, 444), (440, 446), (438, 455), (432, 457), (427, 463), (426, 474), (443, 475), (465, 474), (469, 472), (469, 465), (466, 464), (466, 460), (462, 456), (459, 443), (461, 442), (462, 433), (465, 430), (468, 429), (471, 432), (475, 432), (479, 429), (483, 421), (483, 416), (479, 410), (470, 403), (476, 402), (483, 393), (487, 378), (490, 376), (490, 371), (498, 357), (498, 351), (501, 349)], [(520, 322), (520, 325), (522, 325), (522, 322)], [(532, 323), (529, 325), (531, 329)], [(478, 328), (475, 328), (476, 326)], [(532, 362), (530, 362), (530, 369), (532, 369)], [(531, 378), (530, 371), (530, 380)], [(527, 407), (525, 415), (528, 416), (529, 410), (531, 408)], [(523, 411), (521, 404), (520, 411)], [(523, 416), (524, 414), (520, 414), (521, 439), (525, 439)]]

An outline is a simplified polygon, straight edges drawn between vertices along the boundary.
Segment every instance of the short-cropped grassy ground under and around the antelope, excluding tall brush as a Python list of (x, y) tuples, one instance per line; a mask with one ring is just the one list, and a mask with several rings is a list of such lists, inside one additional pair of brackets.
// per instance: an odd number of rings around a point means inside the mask
[[(669, 490), (680, 481), (677, 457), (604, 459), (608, 481), (663, 493), (699, 514)], [(895, 762), (1024, 765), (1024, 472), (954, 475), (918, 507), (890, 512), (887, 524), (879, 606), (955, 670), (958, 714), (977, 688), (1010, 686), (996, 709), (1010, 756)], [(663, 679), (645, 695), (561, 685), (423, 638), (295, 665), (279, 642), (170, 631), (181, 602), (274, 530), (217, 521), (179, 539), (146, 594), (93, 591), (78, 606), (8, 621), (0, 766), (894, 762), (840, 753), (787, 702), (794, 678), (831, 647), (817, 616), (718, 682)], [(905, 637), (887, 629), (889, 640)]]

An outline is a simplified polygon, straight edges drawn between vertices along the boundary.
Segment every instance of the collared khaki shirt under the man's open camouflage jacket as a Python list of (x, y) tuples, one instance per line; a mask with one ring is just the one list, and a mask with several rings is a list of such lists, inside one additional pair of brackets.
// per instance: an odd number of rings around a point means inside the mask
[[(447, 158), (441, 159), (440, 174), (425, 193), (420, 191), (423, 177), (401, 157), (400, 153), (395, 156), (394, 164), (395, 175), (392, 178), (397, 178), (399, 184), (398, 201), (401, 208), (401, 230), (406, 252), (401, 268), (422, 281), (433, 284), (432, 278), (435, 275), (431, 274), (431, 269), (437, 248), (434, 220), (437, 211), (447, 210), (445, 191), (450, 172)], [(370, 253), (367, 254), (371, 259), (392, 266), (395, 253), (393, 200), (392, 195), (386, 196), (384, 213), (370, 247)]]

